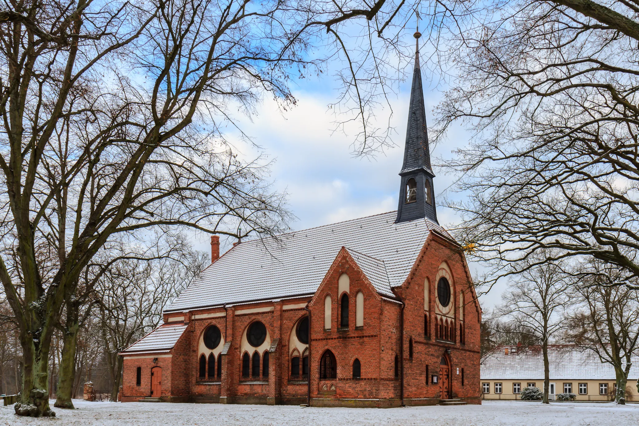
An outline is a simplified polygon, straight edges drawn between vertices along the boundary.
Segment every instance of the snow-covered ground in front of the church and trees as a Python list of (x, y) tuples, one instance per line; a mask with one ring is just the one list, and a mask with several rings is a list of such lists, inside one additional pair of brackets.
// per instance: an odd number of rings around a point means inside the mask
[[(53, 405), (54, 401), (51, 401)], [(639, 405), (613, 403), (486, 401), (482, 406), (376, 408), (301, 408), (222, 404), (85, 402), (75, 410), (56, 409), (56, 418), (21, 418), (13, 406), (0, 406), (0, 425), (450, 425), (639, 426)]]

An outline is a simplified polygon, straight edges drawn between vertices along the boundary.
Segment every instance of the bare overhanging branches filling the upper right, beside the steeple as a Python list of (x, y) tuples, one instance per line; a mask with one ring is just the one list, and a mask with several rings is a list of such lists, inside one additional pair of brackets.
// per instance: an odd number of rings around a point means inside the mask
[[(456, 121), (472, 141), (446, 165), (468, 202), (458, 238), (493, 266), (488, 282), (555, 248), (639, 275), (639, 6), (636, 1), (444, 1), (438, 27), (452, 84), (438, 139)], [(443, 41), (442, 41), (443, 40)], [(442, 61), (444, 59), (444, 61)]]

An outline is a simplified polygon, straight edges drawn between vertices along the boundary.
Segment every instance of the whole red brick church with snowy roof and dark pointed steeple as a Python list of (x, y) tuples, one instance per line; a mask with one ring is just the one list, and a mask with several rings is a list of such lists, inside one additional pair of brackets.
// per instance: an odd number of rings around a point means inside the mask
[(481, 404), (481, 308), (437, 222), (419, 50), (399, 176), (397, 211), (221, 256), (213, 236), (210, 266), (121, 353), (121, 399)]

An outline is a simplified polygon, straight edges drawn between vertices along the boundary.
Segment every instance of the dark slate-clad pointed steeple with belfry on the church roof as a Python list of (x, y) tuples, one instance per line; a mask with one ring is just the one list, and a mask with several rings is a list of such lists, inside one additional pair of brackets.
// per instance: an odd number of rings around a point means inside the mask
[(420, 218), (429, 218), (437, 222), (435, 211), (435, 192), (431, 169), (431, 155), (426, 132), (426, 109), (422, 90), (422, 72), (419, 68), (419, 29), (415, 32), (415, 68), (413, 84), (410, 89), (410, 107), (408, 126), (406, 126), (406, 146), (404, 164), (399, 176), (399, 206), (395, 223)]

